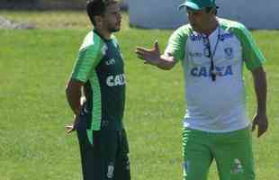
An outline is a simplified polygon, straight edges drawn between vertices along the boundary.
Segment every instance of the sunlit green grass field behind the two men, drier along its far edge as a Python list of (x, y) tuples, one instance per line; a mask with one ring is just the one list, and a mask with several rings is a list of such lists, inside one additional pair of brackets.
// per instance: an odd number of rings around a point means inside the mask
[[(0, 30), (0, 180), (81, 179), (76, 136), (64, 125), (72, 121), (65, 84), (85, 33), (84, 12), (8, 12), (14, 21), (35, 23), (36, 30)], [(64, 24), (64, 25), (63, 25)], [(67, 25), (72, 24), (72, 25)], [(181, 124), (184, 115), (182, 69), (165, 72), (143, 65), (137, 45), (161, 49), (172, 31), (139, 30), (124, 16), (117, 33), (126, 60), (125, 123), (130, 139), (134, 180), (182, 178)], [(253, 31), (268, 62), (269, 132), (253, 138), (258, 180), (279, 176), (279, 31)], [(247, 103), (253, 116), (256, 103), (246, 72)], [(212, 166), (210, 180), (217, 180)]]

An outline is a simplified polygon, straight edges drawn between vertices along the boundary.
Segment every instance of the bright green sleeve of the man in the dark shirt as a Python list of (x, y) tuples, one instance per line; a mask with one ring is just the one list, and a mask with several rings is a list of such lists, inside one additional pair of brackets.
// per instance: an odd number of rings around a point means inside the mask
[(72, 78), (86, 82), (94, 67), (103, 58), (105, 48), (103, 40), (94, 31), (90, 31), (79, 49)]

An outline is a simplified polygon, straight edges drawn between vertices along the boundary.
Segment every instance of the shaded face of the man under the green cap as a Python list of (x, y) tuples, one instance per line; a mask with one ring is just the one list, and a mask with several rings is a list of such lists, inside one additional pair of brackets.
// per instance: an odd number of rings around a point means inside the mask
[(193, 27), (194, 31), (202, 32), (210, 25), (211, 14), (207, 13), (205, 9), (193, 10), (187, 7), (188, 22)]

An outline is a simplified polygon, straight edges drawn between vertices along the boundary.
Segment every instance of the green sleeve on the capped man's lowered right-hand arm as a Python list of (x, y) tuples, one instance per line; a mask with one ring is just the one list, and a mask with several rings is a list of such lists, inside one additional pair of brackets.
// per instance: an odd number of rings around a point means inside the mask
[(242, 46), (242, 58), (250, 71), (261, 67), (266, 58), (263, 56), (260, 49), (257, 48), (256, 42), (247, 28), (238, 22), (233, 22), (225, 19), (220, 19), (221, 28), (234, 33)]

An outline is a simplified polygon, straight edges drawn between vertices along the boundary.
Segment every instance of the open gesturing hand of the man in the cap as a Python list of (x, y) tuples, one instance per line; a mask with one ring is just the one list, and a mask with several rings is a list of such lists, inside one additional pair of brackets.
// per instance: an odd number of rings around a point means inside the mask
[(142, 47), (137, 47), (135, 52), (138, 55), (138, 58), (144, 60), (145, 64), (151, 64), (157, 66), (160, 58), (160, 49), (157, 40), (154, 42), (153, 49), (145, 49)]

